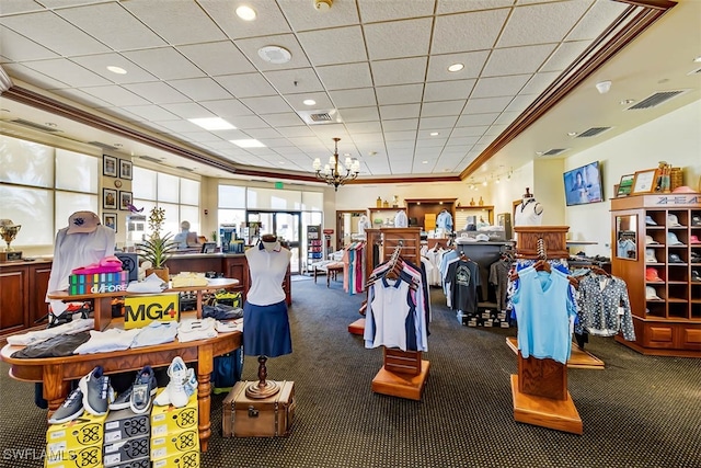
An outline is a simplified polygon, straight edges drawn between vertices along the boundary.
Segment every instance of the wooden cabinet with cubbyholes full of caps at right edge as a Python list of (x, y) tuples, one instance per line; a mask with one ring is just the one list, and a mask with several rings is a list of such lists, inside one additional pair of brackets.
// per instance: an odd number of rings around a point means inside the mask
[(701, 357), (701, 195), (611, 201), (611, 273), (625, 281), (644, 354)]

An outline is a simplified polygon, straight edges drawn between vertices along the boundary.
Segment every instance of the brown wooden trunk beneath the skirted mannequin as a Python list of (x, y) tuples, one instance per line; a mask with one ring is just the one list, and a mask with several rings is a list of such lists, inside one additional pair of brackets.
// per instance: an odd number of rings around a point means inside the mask
[(225, 437), (277, 437), (289, 435), (295, 418), (295, 383), (278, 381), (280, 389), (268, 398), (252, 399), (245, 389), (251, 381), (237, 383), (225, 398)]

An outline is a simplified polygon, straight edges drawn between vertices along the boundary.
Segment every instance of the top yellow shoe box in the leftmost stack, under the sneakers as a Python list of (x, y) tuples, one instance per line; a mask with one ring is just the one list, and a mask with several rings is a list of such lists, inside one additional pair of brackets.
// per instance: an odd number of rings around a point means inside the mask
[(72, 421), (49, 425), (46, 430), (47, 452), (58, 453), (99, 445), (102, 453), (106, 419), (106, 414), (94, 416), (85, 412)]

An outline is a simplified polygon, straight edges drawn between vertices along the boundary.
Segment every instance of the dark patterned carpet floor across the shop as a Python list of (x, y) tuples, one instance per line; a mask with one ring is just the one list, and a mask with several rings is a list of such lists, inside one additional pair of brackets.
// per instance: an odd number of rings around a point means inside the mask
[[(587, 350), (604, 370), (568, 373), (584, 435), (516, 423), (509, 375), (515, 330), (458, 323), (438, 289), (429, 336), (430, 375), (421, 401), (376, 395), (370, 381), (381, 350), (347, 332), (361, 296), (341, 283), (295, 282), (294, 353), (268, 361), (268, 377), (296, 381), (297, 413), (286, 438), (222, 438), (221, 400), (211, 404), (205, 468), (233, 467), (700, 467), (701, 363), (637, 354), (612, 339)], [(244, 379), (256, 379), (246, 357)], [(0, 467), (41, 467), (45, 412), (31, 384), (0, 366)], [(35, 450), (36, 459), (13, 453)], [(25, 454), (32, 454), (25, 450)], [(31, 458), (31, 457), (30, 457)]]

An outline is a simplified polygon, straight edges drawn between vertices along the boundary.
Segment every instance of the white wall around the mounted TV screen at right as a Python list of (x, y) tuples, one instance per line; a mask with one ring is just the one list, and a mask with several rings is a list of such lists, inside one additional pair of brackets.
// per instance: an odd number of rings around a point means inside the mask
[[(602, 162), (606, 202), (565, 208), (570, 239), (598, 242), (588, 255), (611, 255), (611, 197), (621, 175), (653, 169), (659, 161), (682, 168), (686, 185), (701, 190), (701, 101), (697, 101), (631, 132), (565, 160), (565, 170), (593, 161)], [(564, 204), (564, 195), (561, 197)]]

